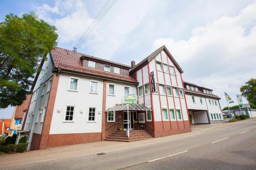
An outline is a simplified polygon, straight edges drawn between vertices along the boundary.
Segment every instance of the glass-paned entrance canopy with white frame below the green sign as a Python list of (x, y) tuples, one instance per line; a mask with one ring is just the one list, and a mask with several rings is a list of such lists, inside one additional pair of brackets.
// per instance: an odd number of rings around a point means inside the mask
[(109, 111), (121, 111), (121, 110), (144, 110), (151, 111), (150, 108), (146, 107), (144, 104), (119, 104), (114, 107), (109, 108), (106, 112)]

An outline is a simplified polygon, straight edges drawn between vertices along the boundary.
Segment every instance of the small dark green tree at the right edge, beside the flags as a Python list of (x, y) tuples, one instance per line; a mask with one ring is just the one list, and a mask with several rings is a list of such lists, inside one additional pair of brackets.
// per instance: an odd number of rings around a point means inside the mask
[(250, 105), (256, 105), (256, 79), (250, 79), (240, 88), (240, 91)]

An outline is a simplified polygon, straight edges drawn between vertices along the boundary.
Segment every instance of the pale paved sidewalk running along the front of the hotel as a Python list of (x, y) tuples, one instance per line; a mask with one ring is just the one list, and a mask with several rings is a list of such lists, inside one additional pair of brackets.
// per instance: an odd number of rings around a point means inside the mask
[[(67, 157), (76, 157), (82, 155), (91, 155), (100, 152), (110, 152), (117, 150), (125, 150), (127, 148), (139, 147), (141, 145), (150, 145), (156, 142), (164, 142), (169, 140), (175, 140), (179, 138), (185, 138), (188, 136), (199, 135), (211, 131), (218, 131), (220, 129), (230, 128), (232, 126), (238, 126), (247, 124), (249, 122), (256, 121), (256, 117), (252, 119), (242, 120), (235, 123), (218, 123), (213, 125), (199, 126), (202, 128), (192, 128), (192, 132), (152, 138), (146, 140), (139, 140), (133, 142), (115, 142), (115, 141), (100, 141), (92, 143), (83, 143), (76, 145), (68, 145), (65, 147), (50, 148), (46, 150), (31, 151), (19, 154), (4, 154), (0, 155), (0, 167), (11, 164), (22, 164), (28, 162), (40, 162), (46, 160), (63, 159)], [(75, 140), (75, 139), (74, 139)]]

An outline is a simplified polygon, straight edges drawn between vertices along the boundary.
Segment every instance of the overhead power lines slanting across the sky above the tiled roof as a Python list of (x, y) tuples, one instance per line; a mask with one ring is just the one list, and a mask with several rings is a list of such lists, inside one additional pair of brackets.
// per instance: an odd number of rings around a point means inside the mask
[(115, 4), (116, 0), (108, 0), (104, 4), (104, 6), (100, 9), (99, 13), (96, 15), (94, 20), (91, 22), (90, 26), (86, 29), (86, 31), (82, 34), (82, 36), (79, 38), (79, 40), (76, 42), (75, 46), (73, 47), (73, 51), (77, 51), (77, 48), (79, 48), (84, 41), (90, 36), (90, 34), (93, 32), (95, 27), (98, 25), (98, 23), (101, 21), (101, 19), (105, 16), (106, 13), (111, 9), (111, 7)]

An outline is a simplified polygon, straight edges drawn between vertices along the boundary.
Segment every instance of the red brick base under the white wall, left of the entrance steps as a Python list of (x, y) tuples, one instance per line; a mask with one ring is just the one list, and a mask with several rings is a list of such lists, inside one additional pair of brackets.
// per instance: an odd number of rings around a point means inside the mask
[(95, 141), (101, 141), (101, 133), (50, 134), (47, 148)]

